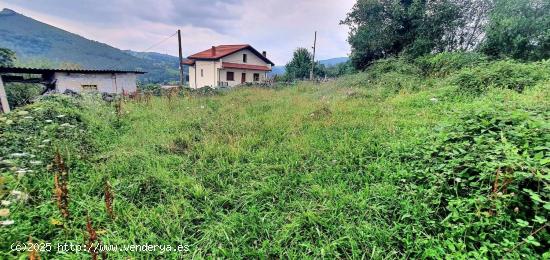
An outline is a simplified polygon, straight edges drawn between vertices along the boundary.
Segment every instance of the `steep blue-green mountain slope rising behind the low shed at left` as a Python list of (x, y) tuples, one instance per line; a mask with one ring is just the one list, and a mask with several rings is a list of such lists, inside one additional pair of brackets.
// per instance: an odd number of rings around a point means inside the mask
[(177, 81), (178, 58), (154, 52), (124, 51), (39, 22), (10, 9), (0, 11), (0, 47), (17, 53), (19, 64), (87, 69), (142, 70), (144, 83)]

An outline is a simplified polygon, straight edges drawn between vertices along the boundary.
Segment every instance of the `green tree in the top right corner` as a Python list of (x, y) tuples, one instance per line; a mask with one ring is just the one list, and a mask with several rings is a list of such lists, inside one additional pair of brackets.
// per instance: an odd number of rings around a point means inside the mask
[(494, 0), (481, 50), (497, 58), (550, 58), (550, 0)]

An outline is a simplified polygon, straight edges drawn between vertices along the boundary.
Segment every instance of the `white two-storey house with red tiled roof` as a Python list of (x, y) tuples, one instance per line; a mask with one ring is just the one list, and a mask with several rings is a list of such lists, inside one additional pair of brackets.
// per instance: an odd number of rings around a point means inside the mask
[(259, 53), (248, 44), (212, 46), (187, 57), (183, 64), (189, 66), (191, 88), (261, 83), (275, 65), (265, 51)]

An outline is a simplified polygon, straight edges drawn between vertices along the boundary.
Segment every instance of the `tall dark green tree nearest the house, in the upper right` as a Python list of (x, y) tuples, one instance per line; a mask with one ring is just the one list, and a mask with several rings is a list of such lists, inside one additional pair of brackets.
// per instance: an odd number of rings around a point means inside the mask
[(364, 69), (377, 59), (402, 53), (418, 57), (471, 49), (479, 42), (486, 13), (480, 7), (487, 1), (358, 0), (341, 21), (351, 28), (352, 63)]

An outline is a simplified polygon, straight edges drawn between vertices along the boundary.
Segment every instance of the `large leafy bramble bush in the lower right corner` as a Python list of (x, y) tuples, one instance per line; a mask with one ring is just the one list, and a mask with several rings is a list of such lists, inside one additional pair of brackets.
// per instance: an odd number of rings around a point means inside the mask
[[(550, 112), (467, 113), (407, 158), (437, 209), (431, 257), (520, 258), (549, 248)], [(412, 160), (411, 160), (412, 159)], [(521, 255), (520, 255), (521, 254)], [(461, 257), (460, 257), (461, 258)], [(529, 257), (527, 257), (529, 258)]]

